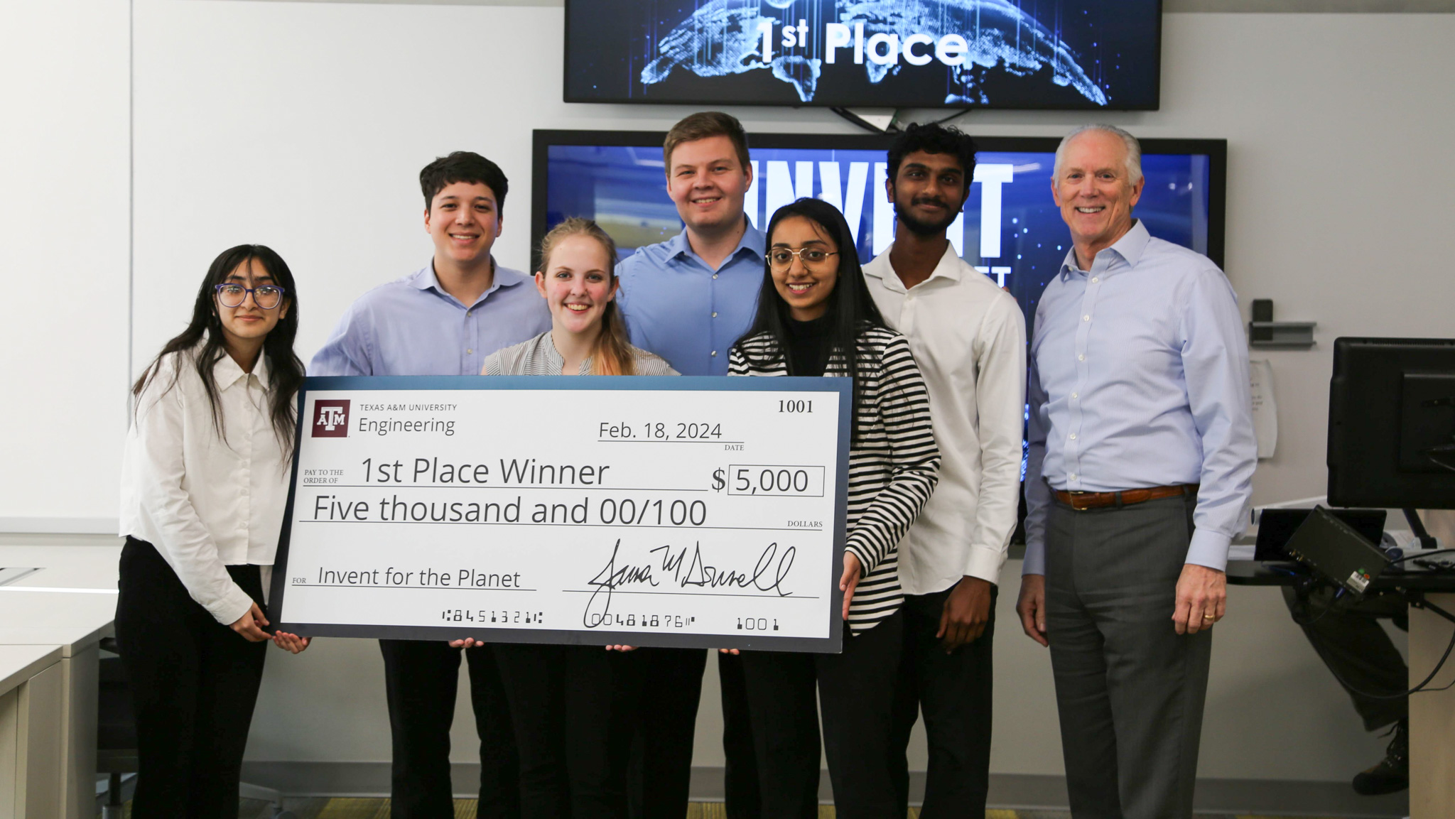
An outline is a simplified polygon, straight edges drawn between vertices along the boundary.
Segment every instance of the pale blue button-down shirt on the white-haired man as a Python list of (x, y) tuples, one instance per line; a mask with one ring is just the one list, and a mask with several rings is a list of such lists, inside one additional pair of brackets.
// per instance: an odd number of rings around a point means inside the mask
[(1046, 572), (1051, 487), (1200, 483), (1187, 563), (1227, 566), (1257, 439), (1237, 295), (1211, 259), (1141, 221), (1090, 271), (1072, 249), (1036, 307), (1027, 391), (1026, 575)]

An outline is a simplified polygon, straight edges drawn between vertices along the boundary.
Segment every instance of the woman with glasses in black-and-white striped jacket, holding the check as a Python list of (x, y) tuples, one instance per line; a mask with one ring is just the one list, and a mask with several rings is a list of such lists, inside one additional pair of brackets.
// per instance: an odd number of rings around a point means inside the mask
[(818, 816), (819, 720), (842, 819), (895, 815), (890, 708), (899, 668), (899, 538), (938, 480), (930, 397), (909, 343), (885, 326), (864, 287), (842, 214), (819, 199), (768, 224), (758, 313), (733, 345), (729, 375), (854, 380), (844, 544), (844, 650), (748, 652), (744, 672), (762, 816)]

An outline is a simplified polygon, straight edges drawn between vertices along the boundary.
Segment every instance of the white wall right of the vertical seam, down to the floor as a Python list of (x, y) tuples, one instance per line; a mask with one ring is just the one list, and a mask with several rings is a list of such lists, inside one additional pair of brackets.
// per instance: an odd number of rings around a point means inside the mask
[[(311, 352), (355, 295), (428, 257), (415, 175), (454, 148), (482, 151), (514, 177), (498, 256), (521, 265), (531, 128), (666, 128), (685, 113), (560, 103), (560, 15), (140, 0), (137, 281), (150, 297), (138, 301), (138, 349), (185, 314), (185, 288), (169, 282), (192, 281), (227, 244), (266, 241), (300, 278), (300, 348)], [(1320, 349), (1270, 353), (1283, 429), (1257, 476), (1260, 500), (1321, 490), (1334, 335), (1451, 335), (1442, 311), (1455, 282), (1435, 256), (1451, 215), (1440, 180), (1452, 170), (1429, 159), (1445, 153), (1455, 122), (1443, 86), (1451, 35), (1451, 16), (1170, 15), (1165, 108), (1109, 116), (1148, 137), (1227, 137), (1234, 284), (1244, 301), (1270, 297), (1279, 316), (1320, 321)], [(738, 115), (749, 131), (848, 131), (818, 109)], [(1061, 134), (1080, 119), (989, 112), (965, 125)], [(1017, 572), (1007, 567), (998, 612), (992, 767), (1056, 774), (1049, 663), (1014, 624)], [(1232, 612), (1216, 640), (1202, 775), (1342, 780), (1375, 758), (1378, 740), (1355, 723), (1276, 592), (1235, 589)], [(368, 643), (276, 658), (263, 703), (252, 758), (387, 759)], [(698, 765), (722, 762), (714, 703), (709, 675)], [(461, 717), (455, 758), (473, 759), (471, 746)], [(922, 749), (917, 756), (922, 767)]]

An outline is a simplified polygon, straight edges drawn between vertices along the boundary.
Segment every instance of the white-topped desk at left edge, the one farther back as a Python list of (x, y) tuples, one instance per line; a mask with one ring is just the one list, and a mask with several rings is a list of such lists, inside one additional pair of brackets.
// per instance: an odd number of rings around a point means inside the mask
[(113, 633), (119, 556), (119, 546), (0, 546), (0, 566), (41, 567), (0, 586), (0, 647), (60, 650), (55, 738), (64, 775), (55, 783), (57, 818), (90, 819), (96, 812), (99, 643)]

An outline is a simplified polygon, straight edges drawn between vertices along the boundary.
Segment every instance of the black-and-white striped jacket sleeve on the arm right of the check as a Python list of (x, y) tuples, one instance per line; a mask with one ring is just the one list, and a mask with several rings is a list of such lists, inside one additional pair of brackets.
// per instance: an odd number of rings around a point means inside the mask
[(930, 393), (909, 352), (909, 342), (898, 333), (883, 348), (876, 391), (890, 477), (854, 522), (844, 544), (858, 557), (864, 575), (873, 572), (909, 531), (940, 480), (940, 448), (930, 425)]

